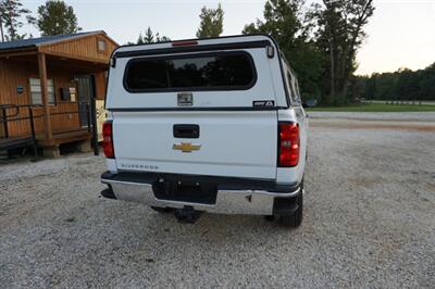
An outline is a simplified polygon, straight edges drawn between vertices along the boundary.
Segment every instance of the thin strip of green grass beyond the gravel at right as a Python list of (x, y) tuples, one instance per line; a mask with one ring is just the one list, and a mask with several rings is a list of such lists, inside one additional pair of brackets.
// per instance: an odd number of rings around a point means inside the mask
[(309, 108), (312, 112), (435, 112), (435, 105), (370, 103), (344, 106)]

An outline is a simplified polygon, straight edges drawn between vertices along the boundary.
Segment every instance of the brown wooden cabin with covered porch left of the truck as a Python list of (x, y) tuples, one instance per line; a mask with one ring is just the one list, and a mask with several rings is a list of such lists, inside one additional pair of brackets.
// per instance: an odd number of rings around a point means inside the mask
[(104, 99), (116, 47), (104, 32), (0, 42), (0, 149), (2, 140), (28, 138), (32, 130), (45, 155), (59, 155), (69, 142), (89, 147), (89, 108)]

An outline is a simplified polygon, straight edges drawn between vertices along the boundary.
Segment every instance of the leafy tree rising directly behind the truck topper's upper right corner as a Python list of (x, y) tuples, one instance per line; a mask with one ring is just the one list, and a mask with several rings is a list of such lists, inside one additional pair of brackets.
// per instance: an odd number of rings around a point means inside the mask
[(312, 98), (320, 95), (325, 60), (310, 39), (303, 5), (303, 0), (270, 0), (264, 5), (264, 21), (246, 25), (243, 34), (271, 35), (296, 72), (302, 97)]

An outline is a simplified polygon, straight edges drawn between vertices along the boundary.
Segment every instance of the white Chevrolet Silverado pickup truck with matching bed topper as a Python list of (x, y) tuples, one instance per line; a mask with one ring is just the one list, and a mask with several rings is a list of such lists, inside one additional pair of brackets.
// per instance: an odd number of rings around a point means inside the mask
[(269, 36), (117, 48), (103, 124), (102, 196), (174, 211), (302, 221), (307, 118)]

